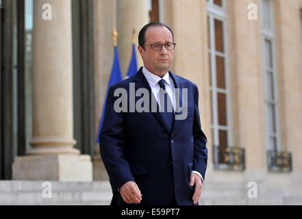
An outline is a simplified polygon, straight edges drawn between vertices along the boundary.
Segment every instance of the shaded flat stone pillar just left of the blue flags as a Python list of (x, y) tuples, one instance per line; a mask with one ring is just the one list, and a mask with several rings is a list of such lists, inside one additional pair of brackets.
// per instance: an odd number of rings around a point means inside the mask
[[(95, 138), (99, 131), (99, 121), (105, 101), (108, 81), (113, 64), (112, 31), (116, 29), (116, 1), (94, 1), (95, 25)], [(108, 179), (101, 155), (99, 144), (95, 145), (93, 157), (93, 179)]]

